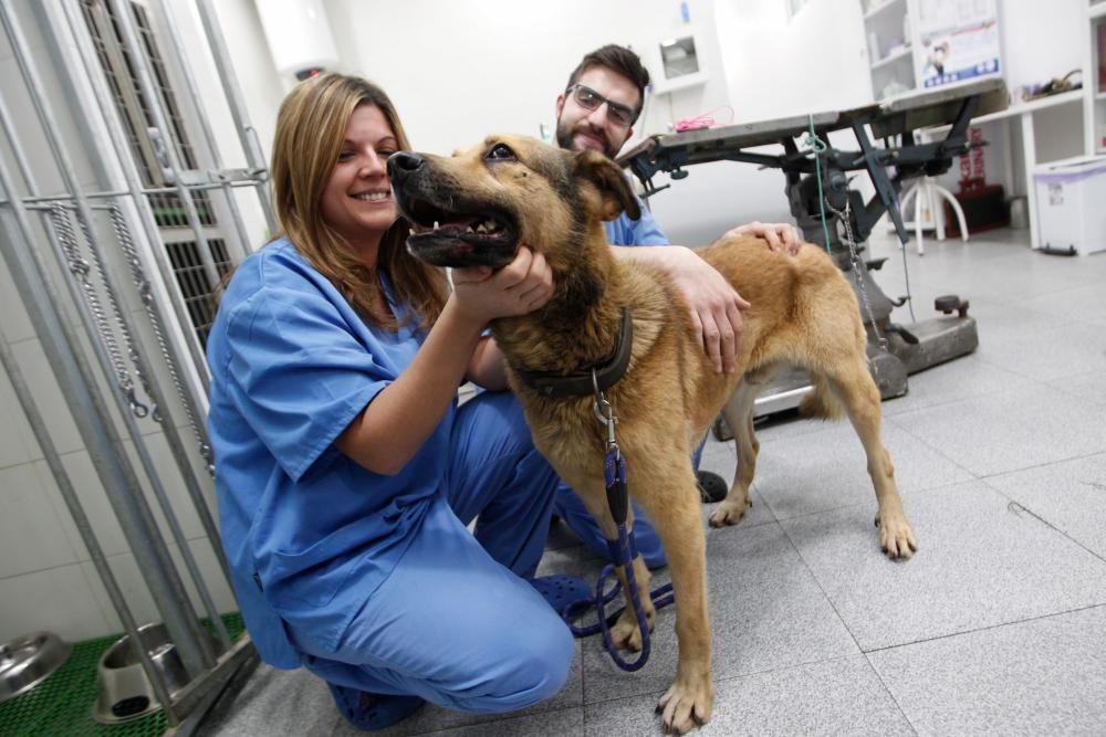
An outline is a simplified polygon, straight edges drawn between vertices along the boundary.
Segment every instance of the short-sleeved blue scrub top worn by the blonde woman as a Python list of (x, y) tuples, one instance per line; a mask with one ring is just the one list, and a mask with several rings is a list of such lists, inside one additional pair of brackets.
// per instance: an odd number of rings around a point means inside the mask
[(300, 665), (281, 620), (313, 650), (337, 646), (442, 483), (456, 404), (395, 476), (333, 445), (414, 359), (413, 328), (368, 327), (286, 239), (246, 259), (222, 297), (207, 346), (219, 518), (242, 617), (273, 665)]

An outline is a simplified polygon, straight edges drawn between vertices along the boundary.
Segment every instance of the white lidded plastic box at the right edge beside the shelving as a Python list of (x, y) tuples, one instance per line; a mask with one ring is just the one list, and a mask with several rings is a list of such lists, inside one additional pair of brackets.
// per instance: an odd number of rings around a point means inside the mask
[(1033, 169), (1041, 244), (1106, 251), (1106, 156), (1042, 164)]

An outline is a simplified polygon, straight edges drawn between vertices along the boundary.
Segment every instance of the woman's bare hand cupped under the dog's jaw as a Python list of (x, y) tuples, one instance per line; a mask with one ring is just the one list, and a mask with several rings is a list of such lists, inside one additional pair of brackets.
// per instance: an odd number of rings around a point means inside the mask
[(452, 278), (458, 307), (480, 325), (497, 317), (525, 315), (553, 296), (553, 272), (545, 256), (525, 246), (498, 271), (491, 266), (455, 269)]

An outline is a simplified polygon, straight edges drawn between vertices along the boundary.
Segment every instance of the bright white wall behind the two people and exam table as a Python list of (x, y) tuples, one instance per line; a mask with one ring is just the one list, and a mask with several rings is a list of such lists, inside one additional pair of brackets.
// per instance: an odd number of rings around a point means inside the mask
[[(813, 2), (791, 23), (783, 6), (691, 0), (709, 80), (653, 97), (635, 140), (667, 131), (674, 118), (713, 110), (728, 120), (724, 106), (741, 122), (866, 102), (857, 3)], [(415, 147), (439, 152), (497, 130), (536, 136), (540, 124), (553, 125), (554, 99), (584, 53), (611, 42), (641, 49), (679, 23), (677, 0), (327, 0), (325, 7), (343, 71), (380, 83)], [(823, 33), (827, 28), (833, 32)], [(848, 64), (824, 63), (842, 49)], [(751, 219), (790, 219), (779, 171), (716, 164), (690, 173), (651, 202), (676, 242), (709, 241)]]

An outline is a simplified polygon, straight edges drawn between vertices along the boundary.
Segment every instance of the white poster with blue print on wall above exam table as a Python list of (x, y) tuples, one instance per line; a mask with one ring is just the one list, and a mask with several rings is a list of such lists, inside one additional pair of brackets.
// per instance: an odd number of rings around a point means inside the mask
[(922, 87), (1001, 71), (995, 0), (919, 0), (918, 40)]

